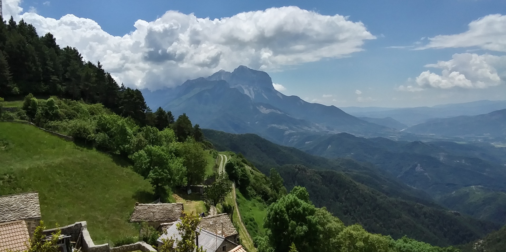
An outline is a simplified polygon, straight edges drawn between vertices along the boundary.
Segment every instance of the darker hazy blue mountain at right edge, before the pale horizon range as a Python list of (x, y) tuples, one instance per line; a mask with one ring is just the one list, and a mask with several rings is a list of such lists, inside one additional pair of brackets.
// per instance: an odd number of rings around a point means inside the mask
[(506, 135), (506, 109), (477, 116), (433, 119), (407, 131), (447, 136), (503, 136)]

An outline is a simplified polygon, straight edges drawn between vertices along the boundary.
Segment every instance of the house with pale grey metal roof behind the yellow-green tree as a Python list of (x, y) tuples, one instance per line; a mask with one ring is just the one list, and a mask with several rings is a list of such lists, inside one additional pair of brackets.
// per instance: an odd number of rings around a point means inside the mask
[[(168, 227), (165, 232), (162, 233), (162, 235), (156, 240), (158, 242), (158, 247), (163, 244), (164, 239), (181, 239), (181, 235), (179, 234), (176, 225), (180, 222), (181, 220), (174, 222), (172, 226)], [(199, 234), (197, 235), (195, 243), (199, 247), (202, 246), (207, 252), (229, 252), (239, 246), (237, 243), (203, 228), (198, 230), (198, 232)]]

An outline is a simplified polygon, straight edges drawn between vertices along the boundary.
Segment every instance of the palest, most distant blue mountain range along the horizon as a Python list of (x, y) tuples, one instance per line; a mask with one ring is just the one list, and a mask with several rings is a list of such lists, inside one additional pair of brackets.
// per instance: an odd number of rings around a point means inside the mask
[(506, 109), (506, 100), (478, 100), (476, 102), (461, 104), (446, 104), (433, 107), (416, 108), (341, 108), (346, 113), (356, 117), (385, 118), (393, 119), (413, 126), (434, 118), (450, 118), (457, 116), (476, 116), (490, 113), (492, 111)]

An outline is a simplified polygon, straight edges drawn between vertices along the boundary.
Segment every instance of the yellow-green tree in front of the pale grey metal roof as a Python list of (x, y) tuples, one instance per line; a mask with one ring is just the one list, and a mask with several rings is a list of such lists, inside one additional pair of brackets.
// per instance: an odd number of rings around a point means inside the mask
[(200, 218), (193, 214), (188, 214), (176, 223), (177, 230), (181, 236), (180, 239), (174, 237), (162, 239), (162, 245), (158, 248), (159, 252), (205, 252), (205, 249), (196, 245), (196, 238), (200, 229), (198, 223)]

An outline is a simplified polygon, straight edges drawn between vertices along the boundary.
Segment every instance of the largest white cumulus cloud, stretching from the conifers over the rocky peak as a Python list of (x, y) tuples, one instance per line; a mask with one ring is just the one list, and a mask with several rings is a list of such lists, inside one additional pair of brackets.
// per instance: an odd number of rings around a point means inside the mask
[(375, 39), (364, 24), (341, 15), (326, 16), (298, 7), (243, 12), (221, 19), (167, 11), (138, 20), (135, 30), (112, 36), (100, 25), (68, 14), (60, 19), (22, 13), (20, 0), (5, 0), (6, 15), (24, 18), (39, 34), (51, 32), (61, 46), (76, 47), (85, 60), (100, 61), (127, 86), (181, 84), (239, 65), (258, 70), (347, 57)]

